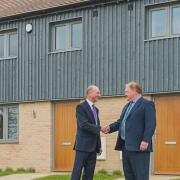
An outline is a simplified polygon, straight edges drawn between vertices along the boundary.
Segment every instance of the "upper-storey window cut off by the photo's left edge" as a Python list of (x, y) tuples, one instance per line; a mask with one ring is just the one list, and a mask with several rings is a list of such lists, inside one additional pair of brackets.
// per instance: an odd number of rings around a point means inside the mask
[(18, 39), (17, 32), (0, 34), (0, 58), (11, 58), (17, 56)]

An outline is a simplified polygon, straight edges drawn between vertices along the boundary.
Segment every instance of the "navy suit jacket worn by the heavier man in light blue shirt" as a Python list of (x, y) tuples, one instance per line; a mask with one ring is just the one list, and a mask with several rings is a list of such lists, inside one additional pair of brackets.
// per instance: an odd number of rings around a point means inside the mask
[[(123, 108), (120, 118), (110, 125), (110, 133), (119, 131), (115, 150), (122, 150), (121, 123), (128, 104)], [(152, 136), (156, 127), (155, 105), (152, 101), (141, 97), (131, 109), (125, 126), (125, 148), (128, 151), (140, 151), (141, 141), (149, 143), (147, 151), (152, 149)]]

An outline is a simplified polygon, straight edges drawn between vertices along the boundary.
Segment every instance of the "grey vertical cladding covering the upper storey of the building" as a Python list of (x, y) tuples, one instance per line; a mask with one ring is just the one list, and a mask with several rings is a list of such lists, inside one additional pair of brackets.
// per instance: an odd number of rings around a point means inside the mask
[[(0, 24), (17, 28), (18, 57), (0, 60), (0, 102), (82, 98), (88, 85), (102, 95), (122, 95), (128, 81), (145, 93), (180, 90), (180, 38), (144, 41), (145, 5), (168, 0), (138, 0)], [(93, 11), (98, 16), (93, 16)], [(51, 53), (51, 22), (82, 17), (81, 50)], [(25, 31), (31, 23), (33, 31)]]

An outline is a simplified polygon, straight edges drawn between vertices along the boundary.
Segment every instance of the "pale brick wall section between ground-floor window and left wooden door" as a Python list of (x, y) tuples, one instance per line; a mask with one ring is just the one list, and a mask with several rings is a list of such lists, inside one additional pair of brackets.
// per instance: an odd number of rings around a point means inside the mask
[(51, 111), (50, 102), (19, 105), (19, 143), (0, 144), (0, 168), (32, 167), (38, 172), (50, 171)]

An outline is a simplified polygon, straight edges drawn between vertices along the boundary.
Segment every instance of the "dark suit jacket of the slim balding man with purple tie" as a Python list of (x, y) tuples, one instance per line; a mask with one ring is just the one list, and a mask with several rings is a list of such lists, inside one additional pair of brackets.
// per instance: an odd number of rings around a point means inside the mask
[(76, 118), (77, 118), (77, 133), (74, 149), (83, 152), (100, 152), (101, 139), (100, 139), (100, 121), (99, 110), (97, 111), (96, 125), (93, 112), (87, 101), (77, 105)]

